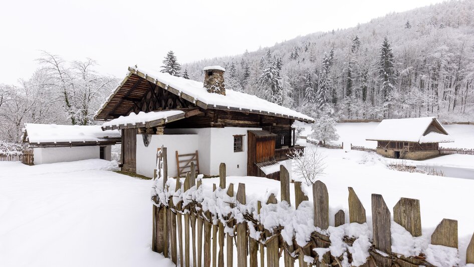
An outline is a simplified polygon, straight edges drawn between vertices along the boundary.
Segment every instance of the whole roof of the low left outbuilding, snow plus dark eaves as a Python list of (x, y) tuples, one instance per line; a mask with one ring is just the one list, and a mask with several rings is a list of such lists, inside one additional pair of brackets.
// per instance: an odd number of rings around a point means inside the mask
[(120, 131), (103, 131), (100, 125), (58, 125), (25, 123), (23, 142), (30, 147), (114, 145)]

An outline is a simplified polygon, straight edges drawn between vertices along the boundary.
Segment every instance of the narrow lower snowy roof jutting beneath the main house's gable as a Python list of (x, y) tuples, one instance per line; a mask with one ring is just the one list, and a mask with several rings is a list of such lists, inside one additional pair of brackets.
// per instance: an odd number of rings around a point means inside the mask
[(163, 110), (151, 112), (130, 113), (128, 116), (120, 116), (111, 121), (104, 122), (102, 129), (124, 129), (135, 127), (155, 127), (166, 122), (185, 118), (186, 113), (182, 110)]

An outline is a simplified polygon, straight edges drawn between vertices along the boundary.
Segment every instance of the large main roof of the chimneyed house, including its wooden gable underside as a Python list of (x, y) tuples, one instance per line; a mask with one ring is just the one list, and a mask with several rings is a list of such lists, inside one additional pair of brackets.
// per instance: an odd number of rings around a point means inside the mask
[(314, 119), (290, 108), (261, 99), (255, 95), (227, 89), (225, 95), (209, 93), (202, 82), (176, 77), (159, 71), (129, 67), (129, 73), (96, 112), (97, 120), (126, 115), (135, 106), (134, 100), (149, 93), (149, 84), (158, 85), (203, 109), (221, 109), (292, 118), (305, 122)]

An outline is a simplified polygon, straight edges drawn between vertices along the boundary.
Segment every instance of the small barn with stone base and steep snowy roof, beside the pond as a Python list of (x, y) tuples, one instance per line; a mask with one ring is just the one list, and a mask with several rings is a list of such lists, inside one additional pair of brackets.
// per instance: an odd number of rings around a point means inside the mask
[(384, 119), (367, 140), (377, 141), (377, 154), (423, 160), (439, 155), (439, 143), (454, 142), (436, 117)]

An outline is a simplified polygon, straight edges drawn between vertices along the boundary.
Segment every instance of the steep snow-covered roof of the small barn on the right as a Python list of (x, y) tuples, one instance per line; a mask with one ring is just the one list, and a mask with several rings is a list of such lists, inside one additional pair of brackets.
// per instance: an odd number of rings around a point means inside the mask
[(454, 142), (436, 117), (384, 119), (367, 140), (420, 144)]

